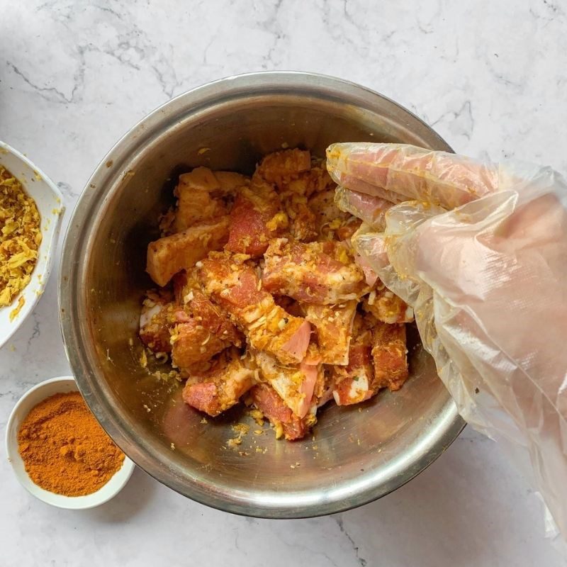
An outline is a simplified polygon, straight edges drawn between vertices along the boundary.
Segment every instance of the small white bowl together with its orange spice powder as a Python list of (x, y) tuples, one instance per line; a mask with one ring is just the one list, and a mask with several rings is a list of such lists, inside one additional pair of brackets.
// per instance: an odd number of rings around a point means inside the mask
[(72, 510), (107, 502), (134, 470), (87, 408), (72, 376), (51, 378), (22, 396), (6, 427), (6, 454), (31, 494)]

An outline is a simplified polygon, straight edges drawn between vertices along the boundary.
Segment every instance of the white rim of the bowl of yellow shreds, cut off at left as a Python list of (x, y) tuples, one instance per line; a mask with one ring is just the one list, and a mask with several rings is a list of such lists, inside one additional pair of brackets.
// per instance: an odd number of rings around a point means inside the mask
[[(22, 162), (27, 167), (32, 169), (36, 174), (38, 174), (41, 177), (41, 181), (45, 182), (45, 186), (47, 186), (47, 189), (51, 191), (55, 201), (59, 201), (61, 205), (60, 208), (58, 208), (57, 210), (52, 210), (52, 215), (55, 215), (55, 223), (51, 230), (50, 241), (47, 244), (47, 254), (45, 256), (45, 259), (39, 257), (38, 261), (35, 263), (35, 266), (33, 268), (32, 278), (35, 276), (38, 269), (43, 266), (41, 280), (35, 288), (35, 293), (33, 293), (31, 301), (26, 301), (26, 303), (24, 303), (23, 307), (19, 311), (17, 318), (9, 323), (7, 327), (7, 332), (3, 334), (2, 329), (0, 328), (0, 349), (4, 346), (4, 344), (6, 344), (6, 342), (8, 342), (11, 339), (13, 334), (21, 327), (23, 322), (29, 317), (30, 313), (33, 312), (35, 305), (38, 304), (38, 301), (40, 301), (40, 298), (43, 295), (43, 290), (45, 290), (45, 286), (47, 286), (47, 281), (49, 281), (52, 272), (53, 261), (55, 258), (55, 249), (57, 248), (57, 241), (59, 240), (60, 228), (65, 210), (63, 203), (63, 195), (61, 191), (59, 190), (57, 185), (53, 183), (50, 177), (47, 176), (45, 172), (43, 172), (42, 169), (40, 169), (37, 165), (35, 165), (28, 157), (23, 155), (21, 152), (18, 152), (18, 150), (11, 147), (11, 145), (6, 144), (6, 142), (2, 142), (2, 140), (0, 140), (0, 155), (3, 153), (11, 154), (13, 157), (16, 157), (16, 159), (18, 159), (20, 162)], [(17, 175), (16, 178), (24, 186), (26, 192), (28, 192), (28, 183), (19, 179)], [(36, 203), (36, 206), (38, 206), (37, 201), (35, 199), (34, 201)], [(40, 214), (41, 214), (40, 228), (43, 231), (43, 229), (45, 228), (44, 223), (51, 217), (44, 218), (45, 211), (41, 211)], [(15, 298), (13, 298), (13, 301), (10, 305), (5, 305), (4, 307), (0, 307), (0, 310), (13, 309), (14, 306), (17, 305), (19, 298), (21, 298), (23, 294), (26, 293), (28, 287), (31, 286), (32, 283), (33, 283), (33, 279), (29, 281), (28, 285), (24, 287)]]

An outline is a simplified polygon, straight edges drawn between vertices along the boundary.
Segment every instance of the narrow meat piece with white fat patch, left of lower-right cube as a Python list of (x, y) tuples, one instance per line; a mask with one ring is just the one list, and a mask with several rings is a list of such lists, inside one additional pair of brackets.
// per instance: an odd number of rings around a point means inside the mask
[(335, 387), (332, 395), (337, 405), (352, 405), (371, 398), (378, 388), (375, 386), (372, 365), (372, 335), (363, 327), (357, 314), (354, 333), (349, 347), (349, 364), (335, 366)]

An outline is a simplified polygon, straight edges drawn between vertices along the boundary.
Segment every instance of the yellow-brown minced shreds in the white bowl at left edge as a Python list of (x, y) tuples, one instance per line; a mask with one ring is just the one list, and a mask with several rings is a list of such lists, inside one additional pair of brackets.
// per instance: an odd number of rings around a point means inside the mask
[[(20, 181), (0, 166), (0, 307), (10, 305), (28, 285), (41, 239), (40, 213), (35, 201)], [(20, 301), (11, 318), (22, 305)]]

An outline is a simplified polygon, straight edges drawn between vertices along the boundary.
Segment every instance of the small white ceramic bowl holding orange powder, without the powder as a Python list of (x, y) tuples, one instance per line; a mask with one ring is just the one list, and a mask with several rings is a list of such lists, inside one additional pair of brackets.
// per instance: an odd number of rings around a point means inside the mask
[(28, 390), (16, 403), (8, 419), (6, 427), (6, 455), (14, 473), (18, 477), (18, 481), (35, 498), (39, 498), (43, 502), (59, 508), (86, 510), (87, 508), (94, 508), (108, 502), (122, 490), (134, 471), (135, 464), (133, 461), (130, 461), (125, 456), (124, 464), (120, 470), (96, 492), (86, 496), (63, 496), (43, 490), (43, 488), (33, 483), (28, 473), (26, 473), (26, 468), (18, 451), (18, 431), (20, 430), (21, 422), (26, 418), (30, 410), (40, 401), (49, 398), (50, 395), (77, 391), (79, 391), (79, 388), (77, 388), (77, 383), (75, 383), (72, 376), (50, 378), (50, 380), (40, 382), (37, 386), (33, 386), (33, 388)]

